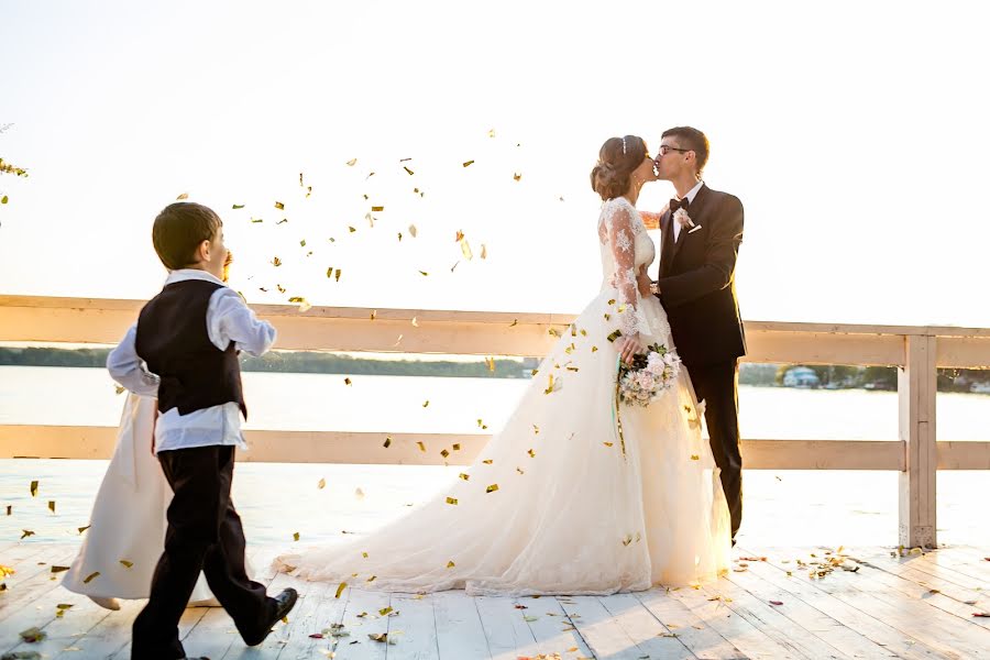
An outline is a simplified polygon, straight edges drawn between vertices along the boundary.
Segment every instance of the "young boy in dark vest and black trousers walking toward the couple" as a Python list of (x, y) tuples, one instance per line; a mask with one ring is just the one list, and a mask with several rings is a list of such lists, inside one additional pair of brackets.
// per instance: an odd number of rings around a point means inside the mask
[(296, 604), (286, 588), (274, 598), (244, 569), (244, 532), (230, 499), (234, 448), (244, 448), (238, 352), (265, 353), (275, 329), (258, 321), (221, 278), (228, 251), (222, 222), (198, 204), (165, 207), (152, 230), (169, 275), (162, 293), (107, 360), (114, 381), (157, 396), (153, 450), (174, 492), (165, 552), (147, 605), (134, 619), (132, 660), (186, 653), (178, 622), (200, 570), (249, 646), (261, 644)]

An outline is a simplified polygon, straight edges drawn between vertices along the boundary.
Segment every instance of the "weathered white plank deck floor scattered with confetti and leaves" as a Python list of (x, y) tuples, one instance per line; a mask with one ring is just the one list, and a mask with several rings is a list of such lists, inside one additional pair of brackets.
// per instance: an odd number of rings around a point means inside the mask
[[(257, 566), (282, 549), (252, 550)], [(76, 546), (13, 543), (0, 564), (0, 656), (130, 657), (130, 626), (141, 602), (101, 609), (58, 586), (51, 566)], [(263, 578), (270, 592), (302, 596), (263, 645), (246, 648), (217, 607), (186, 610), (186, 651), (212, 660), (375, 658), (516, 660), (529, 658), (990, 658), (990, 549), (944, 548), (893, 557), (889, 548), (762, 548), (737, 552), (736, 569), (700, 588), (654, 588), (607, 597), (469, 598), (345, 590)], [(799, 561), (800, 560), (800, 561)], [(58, 605), (72, 605), (58, 616)], [(391, 607), (391, 614), (386, 608)], [(385, 612), (383, 616), (382, 612)], [(37, 627), (46, 637), (21, 641)], [(372, 639), (386, 635), (385, 641)], [(322, 638), (314, 637), (322, 635)]]

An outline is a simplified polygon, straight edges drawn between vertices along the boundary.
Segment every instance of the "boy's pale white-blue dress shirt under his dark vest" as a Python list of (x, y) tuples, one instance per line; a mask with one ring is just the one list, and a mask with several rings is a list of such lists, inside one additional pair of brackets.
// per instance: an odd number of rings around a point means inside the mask
[[(231, 341), (239, 351), (262, 355), (275, 343), (275, 328), (260, 321), (237, 292), (206, 271), (183, 268), (173, 271), (165, 285), (187, 279), (201, 279), (221, 285), (207, 306), (207, 336), (218, 350), (227, 350)], [(158, 376), (147, 371), (136, 350), (138, 323), (128, 329), (120, 344), (107, 358), (110, 376), (141, 396), (158, 395)], [(246, 449), (241, 435), (241, 409), (231, 402), (220, 406), (180, 415), (172, 408), (158, 417), (155, 425), (155, 452), (189, 449), (212, 444), (234, 444)]]

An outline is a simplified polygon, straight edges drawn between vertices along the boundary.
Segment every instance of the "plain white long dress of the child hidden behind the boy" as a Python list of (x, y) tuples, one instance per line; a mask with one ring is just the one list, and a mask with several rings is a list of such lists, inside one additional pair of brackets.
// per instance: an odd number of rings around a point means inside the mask
[[(129, 394), (90, 527), (62, 585), (94, 598), (146, 598), (165, 549), (172, 491), (151, 453), (157, 400)], [(250, 571), (250, 566), (249, 566)], [(92, 576), (95, 573), (99, 573)], [(87, 579), (89, 579), (87, 581)], [(216, 605), (202, 573), (190, 605)]]

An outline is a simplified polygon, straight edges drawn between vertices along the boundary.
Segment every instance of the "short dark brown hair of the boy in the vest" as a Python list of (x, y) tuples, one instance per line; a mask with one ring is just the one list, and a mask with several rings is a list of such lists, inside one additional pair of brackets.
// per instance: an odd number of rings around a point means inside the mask
[(169, 271), (177, 271), (196, 262), (196, 249), (204, 241), (212, 241), (223, 222), (209, 207), (193, 201), (170, 204), (155, 218), (152, 242), (158, 258)]

